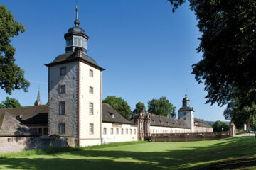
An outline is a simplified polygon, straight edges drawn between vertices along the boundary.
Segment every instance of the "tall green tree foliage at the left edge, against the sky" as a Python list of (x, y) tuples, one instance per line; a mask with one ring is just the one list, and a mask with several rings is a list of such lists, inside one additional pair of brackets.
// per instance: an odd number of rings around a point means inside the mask
[(11, 45), (11, 38), (25, 31), (7, 11), (6, 6), (0, 5), (0, 87), (7, 94), (15, 89), (28, 91), (29, 82), (24, 78), (24, 71), (15, 62), (15, 48)]

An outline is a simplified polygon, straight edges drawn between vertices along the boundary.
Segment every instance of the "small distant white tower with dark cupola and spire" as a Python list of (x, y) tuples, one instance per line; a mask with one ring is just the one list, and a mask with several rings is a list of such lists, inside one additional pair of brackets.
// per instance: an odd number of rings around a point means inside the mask
[(178, 119), (184, 120), (191, 128), (191, 132), (194, 132), (194, 110), (190, 107), (190, 100), (187, 94), (182, 100), (182, 107), (178, 110)]

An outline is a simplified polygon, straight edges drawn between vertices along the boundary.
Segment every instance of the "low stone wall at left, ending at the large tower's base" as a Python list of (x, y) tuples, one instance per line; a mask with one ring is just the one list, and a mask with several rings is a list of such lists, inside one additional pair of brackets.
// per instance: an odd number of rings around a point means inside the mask
[[(70, 138), (46, 139), (40, 137), (0, 137), (0, 153), (21, 152), (29, 149), (45, 149), (48, 147), (73, 147)], [(74, 143), (75, 145), (75, 143)]]

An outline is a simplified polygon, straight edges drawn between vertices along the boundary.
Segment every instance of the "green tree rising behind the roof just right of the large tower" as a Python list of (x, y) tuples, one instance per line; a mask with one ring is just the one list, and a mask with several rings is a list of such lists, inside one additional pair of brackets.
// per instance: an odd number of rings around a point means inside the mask
[(122, 98), (117, 98), (116, 96), (107, 96), (107, 98), (105, 98), (102, 102), (109, 104), (127, 120), (132, 118), (131, 107), (127, 101), (124, 101)]

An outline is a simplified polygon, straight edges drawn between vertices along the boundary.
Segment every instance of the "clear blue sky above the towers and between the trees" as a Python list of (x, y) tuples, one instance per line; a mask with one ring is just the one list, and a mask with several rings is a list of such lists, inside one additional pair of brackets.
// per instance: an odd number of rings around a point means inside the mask
[[(64, 34), (74, 26), (75, 0), (1, 0), (26, 32), (12, 39), (16, 64), (31, 85), (28, 92), (0, 89), (0, 101), (16, 98), (22, 106), (33, 106), (40, 89), (47, 103), (48, 68), (44, 64), (65, 53)], [(153, 98), (166, 96), (182, 106), (187, 86), (195, 117), (225, 120), (225, 106), (205, 104), (207, 92), (198, 84), (192, 64), (202, 59), (196, 52), (201, 33), (188, 1), (175, 13), (167, 0), (78, 1), (80, 27), (89, 36), (87, 54), (102, 72), (102, 98), (122, 97), (132, 111), (137, 102), (147, 107)]]

